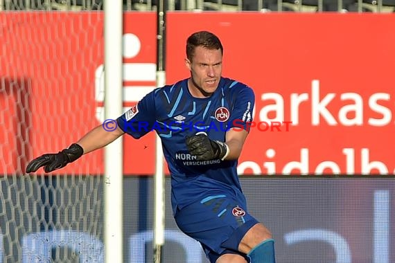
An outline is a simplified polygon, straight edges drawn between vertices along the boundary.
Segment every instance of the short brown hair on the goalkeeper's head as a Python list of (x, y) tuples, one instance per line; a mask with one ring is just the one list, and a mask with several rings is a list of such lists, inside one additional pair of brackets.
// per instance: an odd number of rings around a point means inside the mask
[(208, 31), (193, 33), (186, 39), (186, 57), (188, 57), (188, 60), (192, 61), (197, 46), (203, 46), (209, 49), (220, 49), (221, 54), (224, 53), (224, 48), (222, 47), (220, 39)]

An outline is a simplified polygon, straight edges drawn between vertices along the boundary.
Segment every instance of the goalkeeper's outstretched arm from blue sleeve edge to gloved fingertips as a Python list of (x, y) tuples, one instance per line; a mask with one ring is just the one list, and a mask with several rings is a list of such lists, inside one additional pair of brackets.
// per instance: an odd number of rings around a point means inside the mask
[(76, 161), (82, 154), (105, 147), (105, 145), (112, 143), (122, 134), (123, 131), (119, 127), (114, 131), (106, 131), (102, 125), (99, 125), (85, 134), (77, 143), (70, 145), (69, 148), (62, 149), (57, 154), (43, 154), (30, 161), (26, 167), (26, 172), (35, 172), (40, 167), (44, 167), (44, 172), (58, 170), (66, 166), (67, 163)]

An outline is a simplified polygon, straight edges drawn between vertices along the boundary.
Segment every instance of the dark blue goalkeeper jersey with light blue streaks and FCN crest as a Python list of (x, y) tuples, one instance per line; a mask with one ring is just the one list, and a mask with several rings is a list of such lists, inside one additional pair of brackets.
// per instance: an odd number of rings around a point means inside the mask
[(119, 127), (134, 138), (150, 131), (159, 134), (172, 185), (173, 212), (193, 201), (223, 191), (240, 190), (237, 161), (198, 161), (188, 154), (186, 136), (204, 131), (211, 140), (225, 142), (231, 128), (248, 129), (252, 122), (254, 91), (247, 85), (221, 78), (209, 98), (195, 98), (188, 79), (148, 93), (117, 119)]

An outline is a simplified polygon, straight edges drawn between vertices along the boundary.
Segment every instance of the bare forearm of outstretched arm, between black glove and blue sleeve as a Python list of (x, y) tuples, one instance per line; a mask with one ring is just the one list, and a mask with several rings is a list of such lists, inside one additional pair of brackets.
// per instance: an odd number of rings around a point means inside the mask
[(114, 131), (106, 131), (103, 129), (103, 125), (98, 125), (96, 128), (91, 129), (91, 131), (85, 134), (85, 136), (80, 138), (77, 144), (84, 149), (84, 154), (87, 154), (96, 149), (105, 147), (123, 134), (123, 130), (119, 127), (116, 127)]

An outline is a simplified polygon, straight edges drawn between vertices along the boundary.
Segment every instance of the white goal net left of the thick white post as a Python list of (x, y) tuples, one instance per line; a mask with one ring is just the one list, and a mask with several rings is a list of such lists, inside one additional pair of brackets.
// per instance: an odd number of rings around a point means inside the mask
[(98, 125), (103, 13), (0, 12), (0, 262), (103, 262), (103, 152), (25, 174)]

